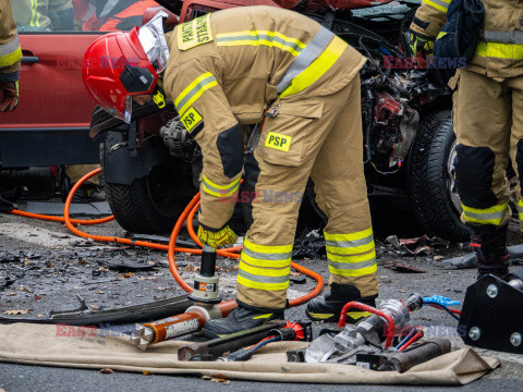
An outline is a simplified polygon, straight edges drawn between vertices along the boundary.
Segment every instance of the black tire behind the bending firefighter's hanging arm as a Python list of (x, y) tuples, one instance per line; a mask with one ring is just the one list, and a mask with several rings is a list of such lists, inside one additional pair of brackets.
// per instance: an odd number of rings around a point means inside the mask
[(170, 233), (197, 192), (190, 176), (173, 173), (175, 168), (157, 166), (131, 185), (106, 183), (107, 200), (117, 222), (132, 233)]

